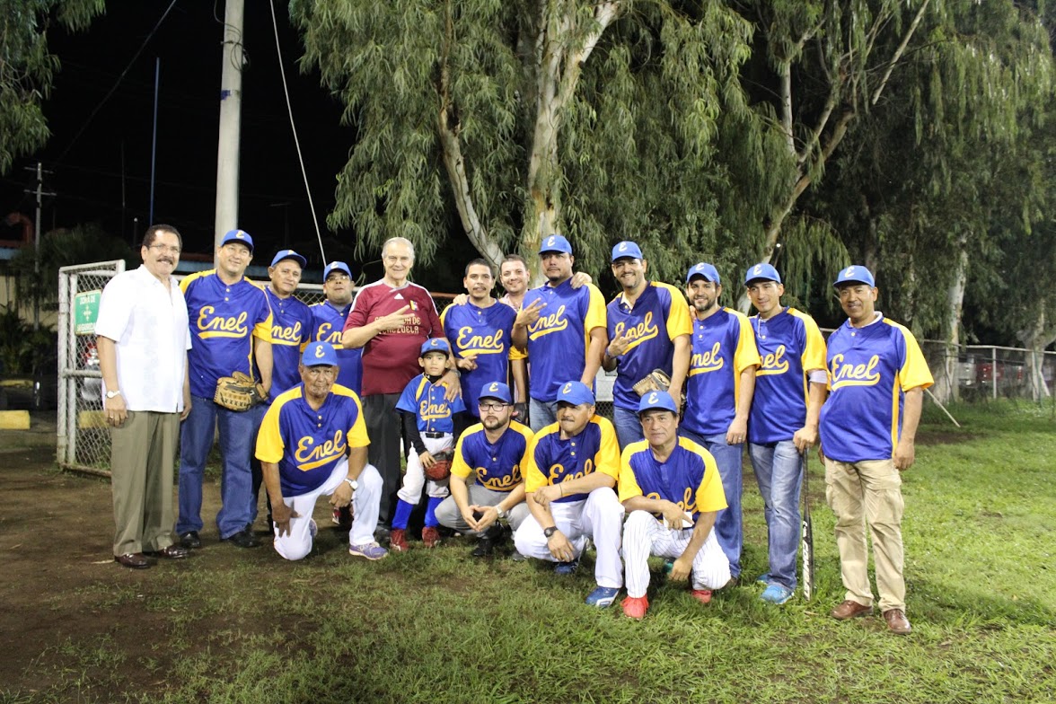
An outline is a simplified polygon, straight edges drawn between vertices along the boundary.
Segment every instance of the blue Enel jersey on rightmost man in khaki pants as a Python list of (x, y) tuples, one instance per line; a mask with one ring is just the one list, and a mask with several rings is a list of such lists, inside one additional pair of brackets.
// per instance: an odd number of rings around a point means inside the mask
[(827, 361), (830, 394), (819, 422), (825, 456), (890, 459), (905, 392), (935, 383), (913, 334), (883, 317), (865, 327), (847, 321), (829, 336)]

